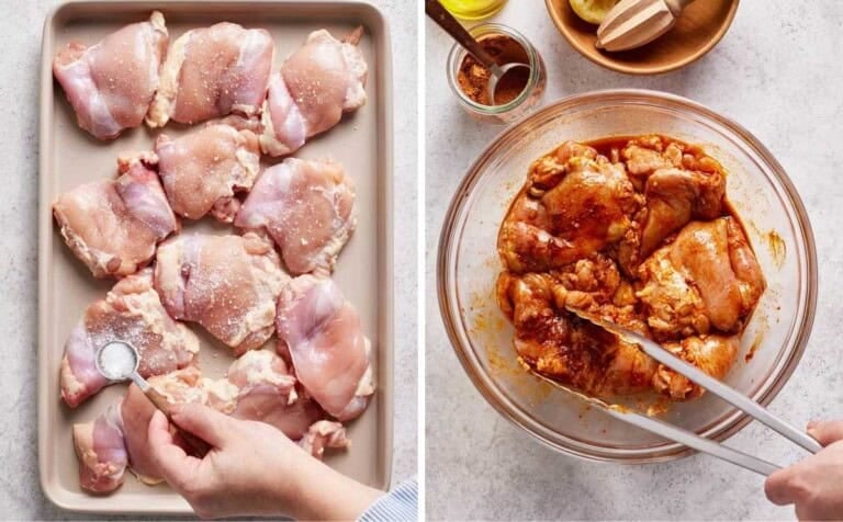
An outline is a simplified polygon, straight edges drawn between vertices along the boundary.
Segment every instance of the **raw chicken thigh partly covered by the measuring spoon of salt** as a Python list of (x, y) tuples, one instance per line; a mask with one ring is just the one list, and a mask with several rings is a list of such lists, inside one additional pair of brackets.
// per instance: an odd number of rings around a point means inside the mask
[(193, 332), (172, 320), (161, 306), (153, 288), (153, 270), (130, 275), (114, 285), (104, 299), (85, 310), (65, 343), (61, 398), (71, 408), (105, 386), (93, 360), (97, 350), (113, 340), (137, 349), (137, 371), (144, 377), (195, 364), (199, 354), (199, 340)]

